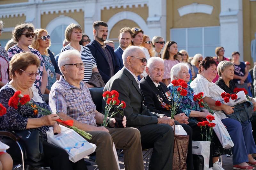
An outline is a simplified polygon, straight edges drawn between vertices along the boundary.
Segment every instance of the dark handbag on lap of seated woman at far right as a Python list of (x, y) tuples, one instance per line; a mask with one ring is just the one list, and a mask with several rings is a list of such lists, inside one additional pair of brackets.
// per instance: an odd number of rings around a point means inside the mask
[(244, 103), (236, 104), (233, 109), (234, 113), (227, 115), (227, 117), (239, 121), (241, 124), (249, 124), (253, 119), (253, 104), (250, 101)]

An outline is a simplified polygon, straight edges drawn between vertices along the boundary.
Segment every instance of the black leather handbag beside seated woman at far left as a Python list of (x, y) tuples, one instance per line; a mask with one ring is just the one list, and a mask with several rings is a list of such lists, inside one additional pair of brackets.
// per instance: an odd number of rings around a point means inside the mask
[[(14, 132), (20, 137), (20, 144), (23, 147), (23, 152), (25, 153), (24, 158), (27, 162), (32, 164), (40, 163), (44, 158), (43, 150), (43, 136), (38, 130), (22, 130)], [(9, 138), (4, 138), (4, 143), (9, 145), (10, 148), (7, 152), (14, 157), (14, 160), (20, 160), (21, 156), (17, 153), (17, 145)], [(18, 149), (19, 150), (19, 149)]]

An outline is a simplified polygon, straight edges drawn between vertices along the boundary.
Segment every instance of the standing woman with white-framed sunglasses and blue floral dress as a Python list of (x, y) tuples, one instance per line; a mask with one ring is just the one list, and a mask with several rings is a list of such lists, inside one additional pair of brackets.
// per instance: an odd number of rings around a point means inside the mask
[(49, 94), (53, 83), (57, 80), (57, 74), (52, 64), (50, 55), (47, 49), (51, 46), (51, 37), (44, 29), (35, 30), (35, 37), (31, 47), (38, 50), (43, 57), (45, 69), (47, 71), (48, 83), (46, 86), (45, 94)]

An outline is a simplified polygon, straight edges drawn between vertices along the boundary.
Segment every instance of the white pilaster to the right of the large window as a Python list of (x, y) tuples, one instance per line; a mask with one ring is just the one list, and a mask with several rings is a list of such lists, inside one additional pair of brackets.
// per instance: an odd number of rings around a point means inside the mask
[(243, 46), (243, 3), (242, 0), (220, 1), (220, 44), (225, 48), (225, 56), (239, 51), (244, 60)]

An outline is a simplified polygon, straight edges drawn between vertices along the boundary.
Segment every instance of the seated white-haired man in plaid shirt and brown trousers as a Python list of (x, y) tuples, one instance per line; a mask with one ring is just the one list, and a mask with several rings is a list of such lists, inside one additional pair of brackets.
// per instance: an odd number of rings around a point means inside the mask
[[(74, 120), (74, 126), (92, 134), (89, 142), (95, 144), (96, 159), (100, 170), (117, 170), (117, 163), (113, 152), (113, 142), (117, 149), (124, 150), (125, 169), (144, 169), (140, 131), (135, 128), (97, 127), (103, 117), (96, 110), (89, 89), (82, 81), (84, 78), (84, 63), (77, 50), (67, 50), (60, 54), (58, 66), (63, 74), (56, 81), (49, 95), (49, 105), (53, 113), (64, 119)], [(116, 120), (110, 121), (115, 127)], [(123, 126), (126, 125), (124, 116)]]

